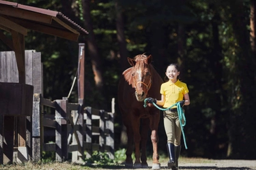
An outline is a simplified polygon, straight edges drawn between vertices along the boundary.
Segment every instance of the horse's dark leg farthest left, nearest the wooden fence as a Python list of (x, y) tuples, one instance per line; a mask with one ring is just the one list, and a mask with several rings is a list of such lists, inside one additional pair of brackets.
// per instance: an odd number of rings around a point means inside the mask
[(126, 133), (127, 133), (127, 146), (126, 146), (126, 167), (133, 167), (132, 162), (132, 127), (131, 124), (126, 124)]

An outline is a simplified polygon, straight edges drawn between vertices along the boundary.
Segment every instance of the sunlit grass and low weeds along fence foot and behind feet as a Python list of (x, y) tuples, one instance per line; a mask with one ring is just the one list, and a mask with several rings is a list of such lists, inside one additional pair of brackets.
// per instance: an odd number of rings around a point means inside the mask
[[(12, 164), (12, 165), (0, 165), (0, 169), (40, 169), (40, 170), (76, 170), (76, 169), (125, 169), (124, 160), (126, 158), (125, 150), (117, 150), (115, 152), (115, 160), (108, 158), (107, 154), (94, 152), (91, 158), (85, 159), (83, 163), (72, 163), (70, 161), (55, 162), (53, 158), (43, 158), (38, 162), (28, 161), (26, 163)], [(134, 160), (134, 155), (132, 155)], [(152, 158), (147, 158), (149, 166), (152, 166)], [(212, 161), (205, 158), (186, 158), (180, 157), (182, 163), (211, 163)], [(159, 159), (161, 165), (168, 162), (168, 158), (164, 155), (160, 155)]]

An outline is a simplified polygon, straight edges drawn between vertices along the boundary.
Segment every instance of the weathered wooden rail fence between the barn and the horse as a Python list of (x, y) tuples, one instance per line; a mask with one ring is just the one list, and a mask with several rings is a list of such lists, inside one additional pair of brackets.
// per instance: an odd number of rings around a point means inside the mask
[[(90, 158), (94, 150), (107, 152), (114, 158), (114, 111), (83, 107), (83, 103), (69, 103), (68, 99), (51, 101), (34, 94), (32, 115), (32, 157), (39, 160), (42, 151), (56, 152), (57, 161)], [(115, 99), (112, 99), (112, 108)], [(47, 113), (46, 107), (55, 110)], [(44, 131), (48, 127), (48, 131)], [(50, 129), (50, 130), (49, 130)], [(44, 137), (55, 141), (44, 141)], [(86, 154), (85, 154), (86, 152)]]

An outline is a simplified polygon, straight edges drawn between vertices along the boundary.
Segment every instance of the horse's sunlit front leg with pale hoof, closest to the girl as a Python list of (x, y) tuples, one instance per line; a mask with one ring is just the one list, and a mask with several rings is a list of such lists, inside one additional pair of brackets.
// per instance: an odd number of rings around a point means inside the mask
[(151, 129), (151, 141), (153, 146), (153, 165), (152, 169), (160, 169), (159, 155), (158, 155), (158, 124), (160, 120), (160, 114), (156, 114), (150, 118)]

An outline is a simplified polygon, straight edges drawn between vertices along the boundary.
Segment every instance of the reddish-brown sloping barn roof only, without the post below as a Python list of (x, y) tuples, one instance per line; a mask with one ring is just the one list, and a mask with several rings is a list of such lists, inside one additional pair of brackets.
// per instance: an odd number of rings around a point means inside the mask
[[(27, 35), (27, 29), (77, 41), (88, 32), (67, 16), (53, 10), (0, 0), (0, 29)], [(0, 36), (1, 39), (1, 36)]]

